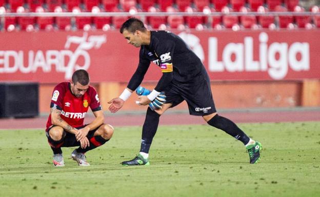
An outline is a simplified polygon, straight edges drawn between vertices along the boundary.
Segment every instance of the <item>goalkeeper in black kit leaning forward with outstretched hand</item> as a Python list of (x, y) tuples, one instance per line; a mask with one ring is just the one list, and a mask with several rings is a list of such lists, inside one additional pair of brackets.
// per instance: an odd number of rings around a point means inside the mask
[[(112, 113), (117, 112), (137, 88), (139, 97), (136, 104), (150, 106), (142, 129), (140, 152), (133, 160), (122, 162), (123, 165), (150, 164), (149, 149), (159, 117), (168, 108), (184, 100), (191, 115), (202, 116), (210, 126), (221, 129), (241, 141), (248, 150), (251, 164), (259, 160), (261, 143), (250, 139), (232, 121), (217, 114), (208, 73), (201, 60), (179, 36), (169, 31), (147, 30), (143, 22), (136, 18), (129, 18), (122, 25), (120, 32), (128, 44), (140, 47), (139, 64), (123, 93), (109, 101), (109, 110)], [(163, 75), (154, 90), (148, 92), (138, 86), (142, 83), (150, 62), (157, 64)], [(162, 92), (165, 92), (165, 95)]]

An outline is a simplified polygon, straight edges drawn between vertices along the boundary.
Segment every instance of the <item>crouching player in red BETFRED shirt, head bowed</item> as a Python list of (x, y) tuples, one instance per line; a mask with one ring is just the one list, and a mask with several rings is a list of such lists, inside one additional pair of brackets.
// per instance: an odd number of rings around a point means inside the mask
[[(85, 153), (111, 139), (113, 127), (104, 124), (104, 114), (96, 90), (89, 86), (89, 74), (77, 70), (72, 82), (55, 86), (50, 104), (50, 115), (46, 127), (49, 145), (53, 150), (53, 165), (64, 166), (61, 147), (74, 147), (71, 157), (79, 166), (90, 166)], [(95, 119), (84, 125), (88, 108)]]

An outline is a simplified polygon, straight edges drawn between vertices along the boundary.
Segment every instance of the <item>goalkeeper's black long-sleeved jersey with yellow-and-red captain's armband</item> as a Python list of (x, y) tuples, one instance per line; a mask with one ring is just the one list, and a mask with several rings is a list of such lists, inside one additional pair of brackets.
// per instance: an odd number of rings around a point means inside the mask
[(150, 45), (141, 46), (139, 65), (129, 82), (129, 89), (135, 90), (141, 84), (150, 62), (163, 72), (154, 88), (156, 91), (162, 91), (169, 83), (188, 83), (206, 72), (201, 60), (181, 37), (169, 31), (151, 31)]

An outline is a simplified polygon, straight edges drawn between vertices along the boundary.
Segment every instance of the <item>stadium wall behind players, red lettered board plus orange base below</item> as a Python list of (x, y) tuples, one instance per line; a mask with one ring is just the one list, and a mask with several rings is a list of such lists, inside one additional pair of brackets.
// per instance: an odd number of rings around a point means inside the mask
[[(175, 33), (203, 61), (217, 108), (320, 106), (320, 30)], [(6, 32), (0, 42), (0, 81), (38, 82), (40, 112), (49, 112), (54, 85), (80, 68), (89, 71), (107, 109), (138, 63), (138, 48), (118, 31)], [(159, 77), (151, 63), (143, 85), (152, 89)], [(132, 105), (135, 98), (123, 109), (141, 109)]]

